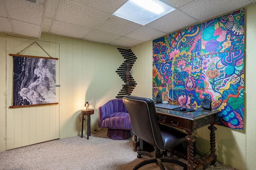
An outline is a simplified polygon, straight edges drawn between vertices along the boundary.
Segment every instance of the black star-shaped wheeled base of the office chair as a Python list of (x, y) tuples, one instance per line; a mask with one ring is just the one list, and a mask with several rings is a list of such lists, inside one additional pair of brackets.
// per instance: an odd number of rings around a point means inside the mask
[(141, 155), (146, 155), (146, 156), (149, 156), (150, 158), (143, 160), (142, 162), (135, 165), (133, 170), (138, 170), (140, 167), (147, 165), (147, 164), (152, 164), (152, 163), (156, 163), (159, 166), (160, 170), (165, 170), (163, 162), (178, 164), (183, 167), (183, 170), (188, 169), (188, 166), (186, 164), (184, 164), (183, 162), (180, 162), (175, 159), (161, 157), (162, 154), (159, 154), (157, 152), (155, 152), (155, 156), (153, 156), (150, 152), (139, 151), (137, 157), (141, 158)]

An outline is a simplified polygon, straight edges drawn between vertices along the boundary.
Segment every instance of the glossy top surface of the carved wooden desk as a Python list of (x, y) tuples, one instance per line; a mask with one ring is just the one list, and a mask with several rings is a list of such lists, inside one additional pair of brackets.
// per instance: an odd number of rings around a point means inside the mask
[(170, 109), (162, 109), (162, 108), (156, 108), (156, 113), (162, 113), (165, 115), (170, 115), (170, 116), (175, 116), (175, 117), (180, 117), (184, 119), (191, 119), (191, 120), (196, 120), (196, 119), (201, 119), (202, 117), (207, 117), (212, 114), (218, 113), (218, 110), (206, 110), (202, 109), (201, 107), (198, 107), (196, 111), (191, 111), (191, 112), (182, 112), (182, 111), (176, 111), (176, 110), (170, 110)]

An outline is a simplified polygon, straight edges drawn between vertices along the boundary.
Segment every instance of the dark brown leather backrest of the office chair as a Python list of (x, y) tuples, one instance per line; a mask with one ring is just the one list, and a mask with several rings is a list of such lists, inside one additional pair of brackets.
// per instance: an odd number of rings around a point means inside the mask
[(131, 117), (134, 135), (150, 145), (163, 148), (154, 102), (149, 98), (136, 96), (124, 96), (123, 102)]

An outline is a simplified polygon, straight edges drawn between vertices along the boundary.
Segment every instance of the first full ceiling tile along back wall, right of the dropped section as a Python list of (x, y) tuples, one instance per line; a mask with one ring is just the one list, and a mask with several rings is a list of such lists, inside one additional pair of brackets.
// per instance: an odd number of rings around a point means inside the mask
[(58, 34), (58, 35), (66, 35), (67, 37), (74, 37), (81, 39), (89, 33), (92, 29), (82, 27), (80, 25), (74, 25), (71, 23), (66, 23), (62, 21), (55, 20), (50, 33)]

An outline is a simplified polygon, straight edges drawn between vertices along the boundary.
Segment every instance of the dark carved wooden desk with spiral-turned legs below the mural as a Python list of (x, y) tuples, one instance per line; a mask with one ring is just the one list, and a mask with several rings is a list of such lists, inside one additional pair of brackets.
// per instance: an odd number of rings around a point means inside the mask
[[(181, 112), (169, 109), (156, 108), (156, 114), (158, 123), (169, 125), (172, 127), (177, 127), (179, 129), (184, 129), (188, 135), (186, 136), (186, 141), (188, 141), (188, 169), (189, 170), (203, 170), (206, 169), (208, 165), (215, 164), (217, 157), (215, 154), (215, 132), (217, 130), (214, 127), (215, 122), (218, 118), (218, 110), (205, 110), (202, 108), (197, 108), (193, 112)], [(208, 158), (204, 161), (198, 161), (196, 167), (194, 166), (194, 150), (193, 142), (196, 141), (193, 136), (194, 131), (206, 125), (210, 125), (208, 129), (210, 130), (210, 151)]]

